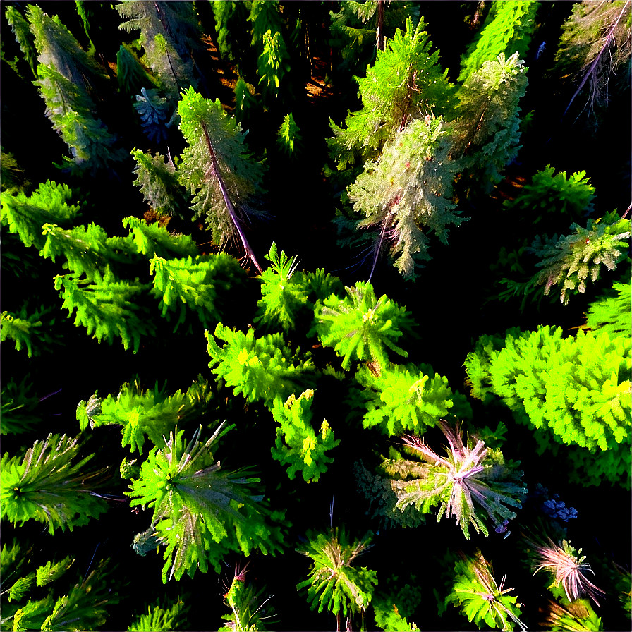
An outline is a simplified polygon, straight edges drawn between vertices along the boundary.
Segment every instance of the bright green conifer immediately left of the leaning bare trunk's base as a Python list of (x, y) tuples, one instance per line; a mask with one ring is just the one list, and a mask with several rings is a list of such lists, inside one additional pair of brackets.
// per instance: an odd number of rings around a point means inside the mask
[[(162, 315), (167, 320), (172, 312), (178, 315), (174, 332), (191, 314), (197, 315), (202, 327), (217, 324), (229, 293), (239, 291), (245, 281), (239, 262), (223, 253), (170, 260), (155, 256), (150, 261), (150, 274), (154, 274), (152, 293), (160, 298)], [(186, 332), (192, 331), (188, 322)]]

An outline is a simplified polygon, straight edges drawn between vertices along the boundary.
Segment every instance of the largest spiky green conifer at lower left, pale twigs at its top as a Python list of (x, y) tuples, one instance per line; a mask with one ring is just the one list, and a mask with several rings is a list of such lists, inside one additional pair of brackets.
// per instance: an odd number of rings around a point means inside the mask
[[(152, 449), (142, 463), (140, 479), (126, 492), (130, 506), (150, 506), (152, 525), (166, 545), (162, 581), (184, 573), (205, 573), (209, 564), (217, 573), (229, 551), (245, 555), (281, 550), (284, 512), (269, 511), (263, 496), (253, 494), (260, 479), (247, 470), (231, 473), (214, 463), (211, 448), (231, 427), (219, 425), (205, 443), (198, 439), (202, 426), (186, 444), (184, 431), (171, 432), (162, 449)], [(274, 525), (268, 525), (267, 518)], [(280, 523), (280, 524), (279, 524)]]

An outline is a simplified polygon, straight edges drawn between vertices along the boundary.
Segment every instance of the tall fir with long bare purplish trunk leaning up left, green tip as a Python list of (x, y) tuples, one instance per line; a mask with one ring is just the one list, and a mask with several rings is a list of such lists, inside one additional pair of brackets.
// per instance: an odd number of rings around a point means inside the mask
[(184, 92), (178, 112), (188, 143), (178, 176), (195, 195), (194, 219), (205, 217), (220, 247), (238, 233), (246, 256), (263, 272), (243, 226), (248, 215), (261, 214), (248, 199), (260, 191), (261, 164), (250, 159), (241, 129), (226, 116), (219, 99), (204, 99), (190, 88)]

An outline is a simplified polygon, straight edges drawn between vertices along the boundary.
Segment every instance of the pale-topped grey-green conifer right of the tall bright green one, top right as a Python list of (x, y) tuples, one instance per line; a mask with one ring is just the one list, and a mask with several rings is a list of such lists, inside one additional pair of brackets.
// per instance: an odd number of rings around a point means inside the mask
[[(511, 2), (509, 3), (511, 4)], [(461, 159), (463, 178), (477, 180), (484, 193), (502, 181), (503, 169), (518, 156), (520, 107), (527, 77), (514, 53), (485, 61), (461, 88), (453, 157)]]

